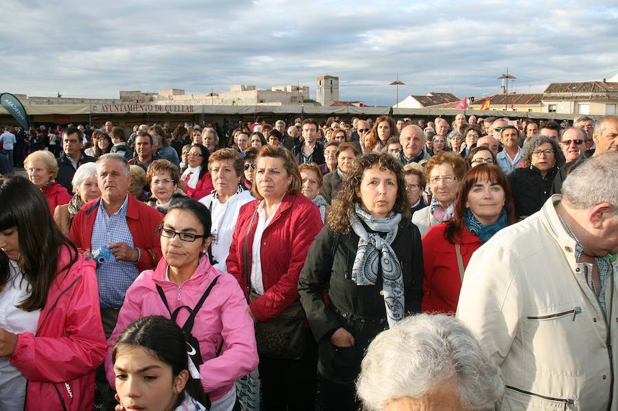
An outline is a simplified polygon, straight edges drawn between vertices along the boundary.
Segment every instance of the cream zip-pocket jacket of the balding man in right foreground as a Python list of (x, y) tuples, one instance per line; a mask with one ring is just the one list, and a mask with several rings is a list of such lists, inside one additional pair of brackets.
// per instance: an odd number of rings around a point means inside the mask
[(499, 410), (618, 409), (618, 265), (607, 280), (606, 322), (558, 219), (560, 198), (497, 233), (466, 269), (457, 318), (501, 367)]

